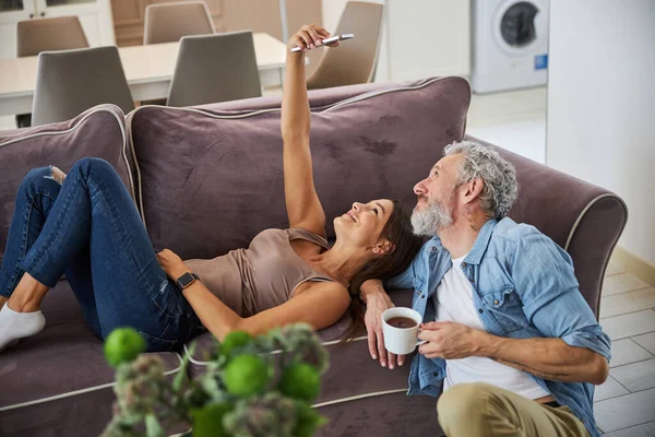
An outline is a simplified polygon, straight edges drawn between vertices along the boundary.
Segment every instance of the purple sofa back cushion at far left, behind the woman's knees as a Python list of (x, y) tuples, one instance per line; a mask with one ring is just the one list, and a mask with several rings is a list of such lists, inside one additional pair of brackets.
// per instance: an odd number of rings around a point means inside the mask
[(85, 156), (108, 161), (134, 196), (124, 117), (118, 106), (99, 105), (72, 120), (29, 129), (0, 131), (0, 261), (19, 186), (35, 167), (68, 172)]

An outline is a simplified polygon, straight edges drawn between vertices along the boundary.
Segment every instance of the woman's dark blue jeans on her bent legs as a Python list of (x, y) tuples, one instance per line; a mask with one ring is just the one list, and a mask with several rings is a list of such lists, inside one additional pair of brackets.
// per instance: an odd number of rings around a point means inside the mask
[(25, 176), (9, 228), (0, 295), (27, 272), (52, 288), (66, 273), (100, 339), (132, 327), (148, 352), (180, 349), (205, 328), (157, 262), (139, 212), (109, 163), (83, 158), (60, 185), (50, 167)]

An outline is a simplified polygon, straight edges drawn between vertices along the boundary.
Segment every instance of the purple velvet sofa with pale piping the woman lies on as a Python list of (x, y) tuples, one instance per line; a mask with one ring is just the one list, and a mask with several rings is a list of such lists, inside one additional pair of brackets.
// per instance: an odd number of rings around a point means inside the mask
[[(427, 175), (443, 147), (465, 138), (468, 83), (441, 78), (408, 84), (367, 84), (310, 93), (317, 190), (329, 218), (353, 201), (401, 199)], [(279, 98), (198, 108), (145, 106), (127, 117), (100, 105), (73, 120), (0, 132), (0, 257), (13, 198), (33, 167), (64, 172), (99, 156), (134, 196), (155, 248), (183, 259), (215, 257), (266, 227), (285, 227)], [(516, 166), (521, 193), (511, 216), (535, 225), (572, 256), (580, 290), (594, 311), (627, 209), (616, 194), (499, 149)], [(334, 229), (329, 220), (329, 237)], [(1, 259), (1, 258), (0, 258)], [(407, 306), (412, 291), (391, 291)], [(0, 354), (0, 435), (93, 436), (111, 414), (112, 370), (102, 342), (85, 326), (66, 280), (44, 302), (46, 329)], [(330, 417), (321, 436), (438, 436), (436, 399), (406, 397), (408, 366), (373, 362), (364, 336), (341, 345), (344, 316), (319, 332), (331, 367), (317, 400)], [(210, 334), (191, 357), (203, 371)], [(168, 374), (181, 354), (159, 355)]]

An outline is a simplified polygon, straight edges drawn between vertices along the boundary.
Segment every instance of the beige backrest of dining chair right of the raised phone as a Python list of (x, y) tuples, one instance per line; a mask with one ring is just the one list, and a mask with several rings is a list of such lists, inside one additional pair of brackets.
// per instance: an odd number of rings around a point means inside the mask
[(327, 49), (313, 74), (307, 80), (310, 90), (354, 85), (372, 80), (378, 60), (383, 5), (349, 1), (334, 35), (355, 34), (337, 49)]

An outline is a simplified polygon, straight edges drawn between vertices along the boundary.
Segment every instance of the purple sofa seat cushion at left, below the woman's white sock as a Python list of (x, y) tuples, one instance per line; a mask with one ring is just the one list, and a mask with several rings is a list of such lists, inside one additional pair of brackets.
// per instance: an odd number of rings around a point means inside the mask
[[(106, 401), (114, 399), (115, 380), (103, 354), (103, 341), (84, 321), (67, 281), (59, 281), (48, 292), (43, 311), (46, 328), (0, 354), (0, 435), (27, 435), (28, 429), (40, 429), (45, 424), (52, 435), (73, 435), (70, 428), (68, 433), (53, 429), (70, 426), (62, 418), (72, 411), (95, 411), (94, 404), (102, 401), (102, 418), (96, 417), (95, 425), (87, 424), (93, 433), (75, 433), (98, 435), (111, 416)], [(177, 353), (157, 355), (168, 374), (178, 371), (181, 358)]]

